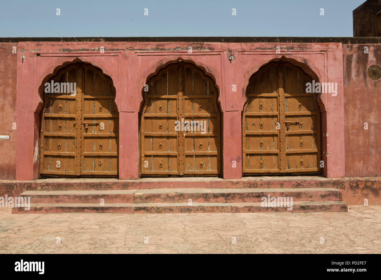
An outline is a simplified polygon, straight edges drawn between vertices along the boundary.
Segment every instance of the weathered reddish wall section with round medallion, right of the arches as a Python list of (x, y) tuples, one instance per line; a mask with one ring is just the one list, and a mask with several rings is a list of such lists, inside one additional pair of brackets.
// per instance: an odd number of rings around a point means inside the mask
[(343, 55), (345, 173), (381, 176), (381, 80), (375, 82), (367, 75), (371, 65), (381, 67), (381, 45), (343, 45)]

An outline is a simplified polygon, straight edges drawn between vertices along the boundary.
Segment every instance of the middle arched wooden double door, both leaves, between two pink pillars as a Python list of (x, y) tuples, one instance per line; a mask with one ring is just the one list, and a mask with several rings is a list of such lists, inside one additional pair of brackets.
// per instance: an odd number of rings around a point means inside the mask
[(142, 176), (221, 174), (220, 112), (214, 81), (178, 61), (149, 78), (141, 111)]

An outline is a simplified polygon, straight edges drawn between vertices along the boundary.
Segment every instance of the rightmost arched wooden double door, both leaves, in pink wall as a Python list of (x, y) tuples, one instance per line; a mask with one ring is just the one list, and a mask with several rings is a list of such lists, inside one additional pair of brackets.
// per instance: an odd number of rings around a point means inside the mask
[(250, 77), (242, 114), (244, 174), (320, 171), (320, 110), (316, 94), (306, 93), (312, 80), (283, 61)]

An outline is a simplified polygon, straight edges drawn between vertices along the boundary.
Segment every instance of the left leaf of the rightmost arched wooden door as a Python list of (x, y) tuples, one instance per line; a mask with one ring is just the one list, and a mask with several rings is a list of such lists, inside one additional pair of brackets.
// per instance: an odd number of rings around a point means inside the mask
[(279, 171), (277, 83), (277, 68), (273, 66), (249, 80), (242, 115), (243, 173)]

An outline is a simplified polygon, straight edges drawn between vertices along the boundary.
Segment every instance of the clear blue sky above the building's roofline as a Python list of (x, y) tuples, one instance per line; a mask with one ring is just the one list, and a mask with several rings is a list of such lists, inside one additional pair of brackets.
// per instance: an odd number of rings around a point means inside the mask
[[(352, 37), (352, 11), (363, 2), (1, 0), (0, 37)], [(60, 16), (56, 8), (61, 9)]]

